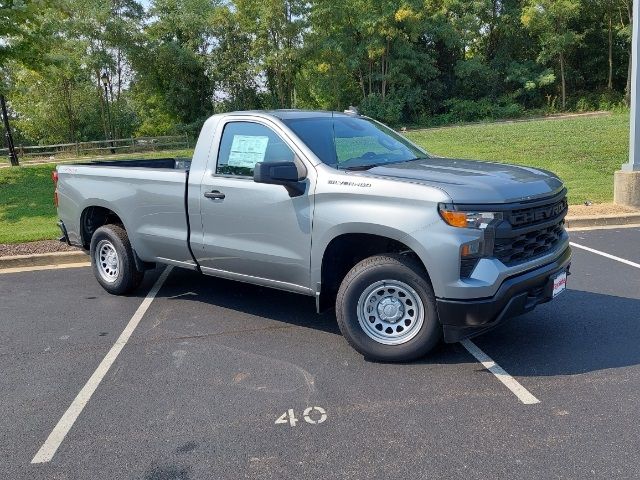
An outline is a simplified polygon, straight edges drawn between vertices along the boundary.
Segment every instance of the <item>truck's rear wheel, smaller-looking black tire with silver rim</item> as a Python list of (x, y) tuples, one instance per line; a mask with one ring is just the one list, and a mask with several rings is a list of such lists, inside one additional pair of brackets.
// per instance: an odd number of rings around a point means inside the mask
[[(115, 264), (111, 269), (110, 264), (98, 258), (99, 249), (102, 250), (103, 247), (107, 250), (113, 248), (116, 254)], [(142, 283), (144, 272), (136, 269), (129, 236), (120, 225), (104, 225), (94, 232), (91, 237), (90, 256), (93, 274), (107, 292), (113, 295), (124, 295), (132, 292)], [(101, 263), (103, 266), (100, 265)], [(111, 272), (111, 276), (108, 272)]]

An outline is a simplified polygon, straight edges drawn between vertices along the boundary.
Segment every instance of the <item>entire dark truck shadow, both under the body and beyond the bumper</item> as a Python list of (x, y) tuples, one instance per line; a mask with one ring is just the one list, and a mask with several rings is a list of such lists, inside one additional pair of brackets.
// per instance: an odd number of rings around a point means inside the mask
[[(155, 275), (154, 275), (155, 277)], [(141, 289), (145, 291), (145, 289)], [(340, 335), (334, 311), (270, 288), (175, 269), (161, 298), (184, 298), (284, 324)], [(640, 364), (640, 300), (568, 290), (554, 302), (473, 340), (514, 376), (576, 375)], [(413, 364), (473, 362), (459, 345), (441, 345)]]

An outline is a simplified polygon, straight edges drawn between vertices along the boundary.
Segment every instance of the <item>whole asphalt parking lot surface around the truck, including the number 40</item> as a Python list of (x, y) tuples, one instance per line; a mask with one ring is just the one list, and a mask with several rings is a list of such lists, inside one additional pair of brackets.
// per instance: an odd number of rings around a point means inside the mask
[[(572, 240), (640, 260), (639, 229)], [(159, 273), (127, 298), (88, 268), (0, 275), (3, 478), (637, 475), (640, 269), (579, 249), (566, 293), (474, 339), (533, 405), (460, 344), (367, 362), (313, 299), (174, 269), (52, 460), (31, 464)]]

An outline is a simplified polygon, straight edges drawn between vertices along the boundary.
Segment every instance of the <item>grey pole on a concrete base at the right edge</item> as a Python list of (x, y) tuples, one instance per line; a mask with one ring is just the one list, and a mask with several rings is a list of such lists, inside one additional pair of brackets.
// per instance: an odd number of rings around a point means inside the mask
[(613, 182), (614, 200), (621, 205), (640, 207), (640, 0), (633, 0), (633, 35), (631, 38), (631, 109), (629, 162), (615, 173)]

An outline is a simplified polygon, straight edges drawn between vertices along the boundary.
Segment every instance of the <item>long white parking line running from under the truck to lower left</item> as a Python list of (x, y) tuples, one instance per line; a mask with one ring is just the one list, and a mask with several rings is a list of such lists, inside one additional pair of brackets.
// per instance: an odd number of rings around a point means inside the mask
[(100, 362), (100, 365), (98, 365), (98, 368), (96, 368), (96, 371), (91, 375), (91, 378), (89, 378), (85, 386), (82, 387), (82, 390), (80, 390), (76, 398), (71, 402), (71, 405), (69, 405), (67, 411), (64, 412), (64, 415), (62, 415), (62, 418), (60, 418), (45, 442), (42, 444), (38, 453), (36, 453), (31, 460), (31, 463), (45, 463), (53, 458), (56, 450), (58, 450), (58, 447), (66, 437), (67, 433), (69, 433), (69, 430), (71, 430), (71, 427), (73, 427), (78, 416), (82, 413), (85, 405), (91, 399), (91, 395), (96, 391), (96, 388), (100, 385), (100, 382), (109, 371), (109, 368), (111, 368), (113, 362), (118, 358), (120, 351), (124, 348), (127, 341), (129, 341), (129, 337), (131, 337), (131, 334), (138, 326), (138, 323), (140, 323), (140, 320), (142, 320), (142, 317), (149, 309), (151, 302), (153, 302), (153, 299), (158, 294), (160, 287), (162, 287), (162, 284), (169, 276), (169, 273), (171, 273), (172, 268), (173, 267), (170, 266), (167, 267), (164, 272), (162, 272), (162, 275), (160, 275), (158, 280), (156, 280), (156, 283), (133, 314), (133, 317), (129, 320), (129, 323), (116, 340), (116, 343), (113, 344), (109, 352), (107, 352), (107, 355), (102, 359), (102, 362)]

